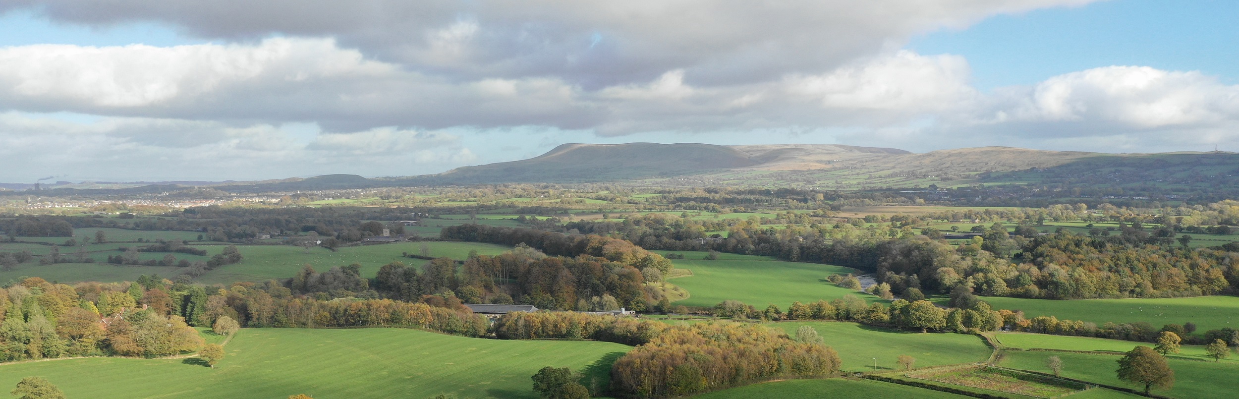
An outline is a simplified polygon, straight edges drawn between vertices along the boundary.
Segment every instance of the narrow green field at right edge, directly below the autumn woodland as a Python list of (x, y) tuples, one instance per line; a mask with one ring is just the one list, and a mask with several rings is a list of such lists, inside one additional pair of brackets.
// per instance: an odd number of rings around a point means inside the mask
[[(675, 281), (679, 284), (679, 281)], [(693, 290), (689, 290), (691, 292)], [(1239, 328), (1239, 297), (1196, 296), (1156, 299), (1035, 300), (986, 296), (994, 309), (1022, 310), (1026, 318), (1054, 316), (1058, 320), (1147, 322), (1154, 327), (1194, 322), (1199, 332), (1222, 327)], [(944, 302), (945, 299), (935, 299)]]

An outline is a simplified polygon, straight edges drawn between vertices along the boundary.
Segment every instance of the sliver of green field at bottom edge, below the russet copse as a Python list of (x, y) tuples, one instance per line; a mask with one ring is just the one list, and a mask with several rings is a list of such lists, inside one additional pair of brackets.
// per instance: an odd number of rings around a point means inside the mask
[[(865, 399), (955, 399), (968, 398), (908, 385), (869, 379), (792, 379), (752, 384), (693, 397), (696, 399), (753, 399), (753, 398), (865, 398)], [(1074, 397), (1073, 397), (1074, 398)]]

